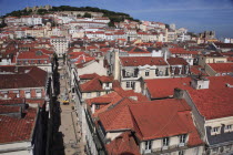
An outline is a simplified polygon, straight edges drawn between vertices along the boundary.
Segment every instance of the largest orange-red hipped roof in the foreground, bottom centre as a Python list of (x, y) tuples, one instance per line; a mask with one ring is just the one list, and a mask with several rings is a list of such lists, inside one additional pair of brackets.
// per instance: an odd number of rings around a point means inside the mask
[[(140, 141), (189, 134), (189, 146), (203, 144), (184, 100), (169, 99), (115, 106), (99, 115), (108, 131), (131, 130)], [(123, 120), (123, 121), (122, 121)]]

